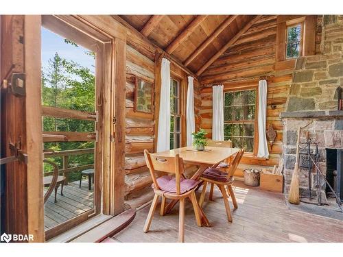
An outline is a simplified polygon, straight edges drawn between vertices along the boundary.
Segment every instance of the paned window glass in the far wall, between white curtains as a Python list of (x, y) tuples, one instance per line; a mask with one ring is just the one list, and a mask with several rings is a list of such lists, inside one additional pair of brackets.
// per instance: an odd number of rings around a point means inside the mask
[(224, 93), (224, 139), (254, 152), (257, 90)]

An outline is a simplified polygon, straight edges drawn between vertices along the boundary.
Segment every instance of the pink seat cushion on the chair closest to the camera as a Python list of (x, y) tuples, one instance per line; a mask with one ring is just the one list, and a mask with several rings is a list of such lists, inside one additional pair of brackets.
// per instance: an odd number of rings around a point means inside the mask
[[(164, 175), (157, 179), (157, 183), (163, 191), (176, 193), (176, 180), (174, 176)], [(198, 186), (199, 183), (200, 181), (180, 178), (180, 193), (183, 194), (187, 191), (190, 191), (191, 189)]]

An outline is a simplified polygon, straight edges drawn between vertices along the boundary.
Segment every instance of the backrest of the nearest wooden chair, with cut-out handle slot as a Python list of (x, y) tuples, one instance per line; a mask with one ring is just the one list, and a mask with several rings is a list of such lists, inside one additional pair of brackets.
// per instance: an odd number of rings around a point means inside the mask
[(178, 154), (176, 156), (161, 156), (158, 154), (150, 154), (147, 149), (144, 150), (145, 161), (149, 168), (150, 175), (152, 176), (152, 182), (156, 189), (160, 189), (156, 179), (156, 171), (162, 171), (166, 173), (174, 173), (176, 180), (176, 193), (180, 195), (180, 178), (185, 172), (183, 160)]

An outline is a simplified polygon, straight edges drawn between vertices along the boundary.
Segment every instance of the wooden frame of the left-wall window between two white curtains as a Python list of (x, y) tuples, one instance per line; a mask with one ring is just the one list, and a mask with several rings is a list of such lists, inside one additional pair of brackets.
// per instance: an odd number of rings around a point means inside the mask
[[(173, 86), (172, 85), (173, 80), (178, 82), (178, 96), (176, 97), (178, 99), (178, 112), (177, 113), (171, 112), (171, 105), (170, 105), (170, 116), (174, 117), (174, 127), (173, 127), (174, 130), (173, 130), (173, 132), (170, 131), (169, 134), (170, 134), (170, 136), (172, 134), (173, 138), (174, 138), (174, 140), (173, 140), (174, 146), (172, 149), (176, 149), (176, 144), (175, 144), (175, 142), (176, 142), (175, 141), (175, 135), (176, 134), (179, 135), (179, 148), (182, 147), (182, 92), (181, 92), (181, 90), (182, 90), (181, 85), (182, 84), (181, 84), (181, 79), (179, 79), (178, 77), (176, 77), (174, 75), (171, 75), (170, 76), (170, 88), (172, 88), (172, 86)], [(170, 102), (170, 104), (171, 104), (171, 102)], [(180, 125), (179, 125), (180, 131), (179, 132), (176, 131), (176, 125), (175, 125), (176, 124), (176, 117), (179, 117), (179, 119), (180, 119)]]

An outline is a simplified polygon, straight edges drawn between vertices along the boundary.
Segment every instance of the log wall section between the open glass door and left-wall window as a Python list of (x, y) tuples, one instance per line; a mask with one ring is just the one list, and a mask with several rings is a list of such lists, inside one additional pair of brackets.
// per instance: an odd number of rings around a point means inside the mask
[(154, 83), (154, 62), (139, 51), (126, 47), (126, 138), (125, 182), (126, 199), (132, 191), (152, 183), (143, 150), (154, 148), (154, 112), (134, 112), (134, 75)]

